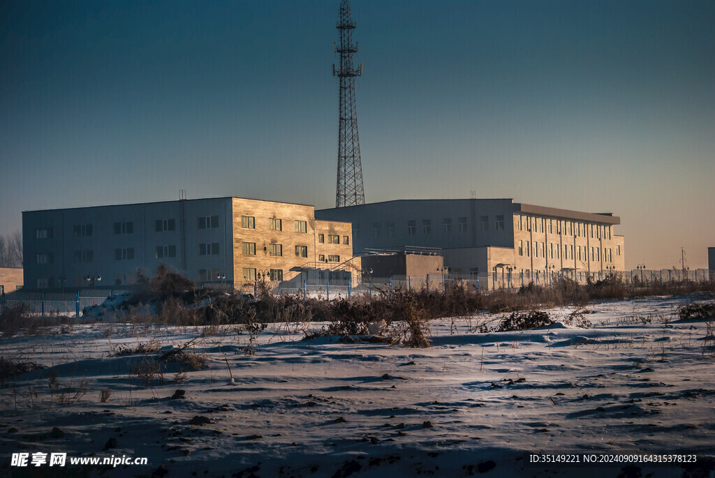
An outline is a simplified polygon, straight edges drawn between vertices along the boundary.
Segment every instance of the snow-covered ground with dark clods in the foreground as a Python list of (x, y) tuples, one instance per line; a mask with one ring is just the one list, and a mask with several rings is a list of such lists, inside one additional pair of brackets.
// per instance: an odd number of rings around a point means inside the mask
[[(0, 387), (0, 474), (49, 475), (47, 464), (12, 467), (11, 454), (66, 452), (148, 458), (86, 467), (112, 477), (713, 477), (715, 338), (706, 322), (675, 315), (692, 299), (591, 304), (589, 328), (479, 334), (492, 316), (441, 319), (430, 323), (429, 349), (300, 341), (305, 325), (270, 324), (255, 356), (242, 350), (247, 334), (207, 337), (192, 349), (207, 367), (175, 382), (182, 375), (169, 364), (148, 387), (130, 373), (146, 357), (110, 351), (152, 338), (183, 344), (201, 328), (78, 324), (3, 339), (3, 357), (52, 368)], [(563, 321), (572, 311), (548, 313)], [(77, 394), (83, 378), (87, 393)], [(185, 394), (172, 399), (177, 389)], [(531, 464), (531, 454), (573, 454), (581, 464)], [(697, 462), (584, 464), (584, 454)]]

